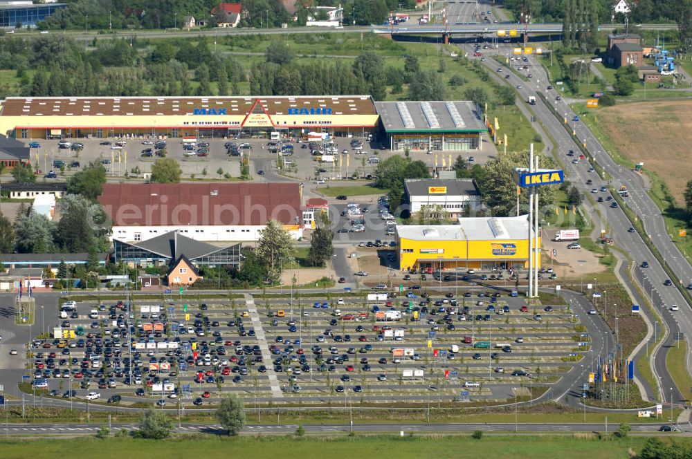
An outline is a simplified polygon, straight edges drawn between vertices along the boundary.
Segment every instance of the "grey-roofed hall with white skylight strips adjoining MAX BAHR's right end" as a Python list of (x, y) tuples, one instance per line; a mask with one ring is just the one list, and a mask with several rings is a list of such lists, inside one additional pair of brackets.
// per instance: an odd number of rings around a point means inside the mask
[(392, 150), (477, 150), (488, 130), (473, 102), (375, 102), (375, 107)]

